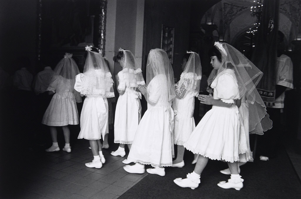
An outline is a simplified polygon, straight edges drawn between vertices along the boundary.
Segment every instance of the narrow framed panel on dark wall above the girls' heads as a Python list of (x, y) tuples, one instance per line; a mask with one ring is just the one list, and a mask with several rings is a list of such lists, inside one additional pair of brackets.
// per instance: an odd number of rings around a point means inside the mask
[(162, 24), (161, 49), (165, 50), (170, 63), (173, 63), (175, 28)]

